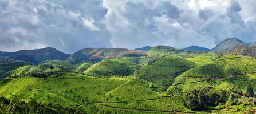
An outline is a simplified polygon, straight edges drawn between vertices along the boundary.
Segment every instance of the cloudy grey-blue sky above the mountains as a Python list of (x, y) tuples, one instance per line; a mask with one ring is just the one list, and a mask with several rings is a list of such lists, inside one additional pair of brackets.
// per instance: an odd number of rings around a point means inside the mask
[(256, 40), (255, 0), (0, 0), (0, 51)]

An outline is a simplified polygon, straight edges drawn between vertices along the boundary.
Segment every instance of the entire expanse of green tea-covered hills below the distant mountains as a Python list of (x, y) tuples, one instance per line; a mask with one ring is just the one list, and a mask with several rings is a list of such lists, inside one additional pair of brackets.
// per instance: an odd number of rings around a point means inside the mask
[[(159, 48), (174, 54), (154, 53)], [(10, 113), (255, 112), (256, 59), (170, 49), (159, 46), (149, 51), (152, 56), (97, 63), (46, 60), (13, 67), (0, 81), (0, 109)], [(101, 56), (108, 56), (106, 52)]]

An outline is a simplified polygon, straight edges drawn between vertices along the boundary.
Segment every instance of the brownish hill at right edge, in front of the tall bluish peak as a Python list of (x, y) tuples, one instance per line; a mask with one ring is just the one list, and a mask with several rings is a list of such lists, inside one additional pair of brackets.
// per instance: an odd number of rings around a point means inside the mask
[(256, 47), (251, 46), (235, 46), (230, 50), (222, 52), (222, 54), (233, 54), (239, 56), (256, 57)]

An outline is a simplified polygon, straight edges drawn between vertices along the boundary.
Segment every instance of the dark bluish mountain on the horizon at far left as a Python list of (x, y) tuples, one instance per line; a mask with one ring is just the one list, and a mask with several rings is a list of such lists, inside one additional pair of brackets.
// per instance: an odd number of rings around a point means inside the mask
[(17, 59), (33, 64), (41, 63), (45, 60), (64, 60), (68, 58), (68, 54), (58, 51), (55, 48), (46, 47), (36, 50), (21, 50), (16, 52), (1, 52), (0, 58)]

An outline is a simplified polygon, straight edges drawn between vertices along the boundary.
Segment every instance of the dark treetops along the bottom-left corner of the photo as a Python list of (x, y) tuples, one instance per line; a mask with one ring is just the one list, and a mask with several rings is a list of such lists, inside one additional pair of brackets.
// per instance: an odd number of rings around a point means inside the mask
[(60, 104), (43, 104), (34, 100), (25, 101), (7, 100), (0, 97), (0, 113), (87, 113), (82, 107), (63, 107)]

